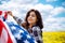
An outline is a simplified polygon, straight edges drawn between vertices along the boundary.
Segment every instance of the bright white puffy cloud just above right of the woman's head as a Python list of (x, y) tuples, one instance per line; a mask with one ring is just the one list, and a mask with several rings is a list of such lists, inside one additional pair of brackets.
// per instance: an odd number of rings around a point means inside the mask
[(46, 12), (49, 12), (53, 9), (52, 5), (50, 4), (42, 4), (42, 3), (39, 3), (39, 4), (36, 4), (35, 5), (35, 9), (39, 10), (39, 11), (46, 11)]

